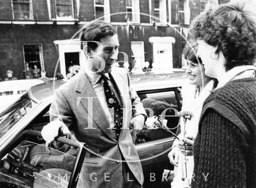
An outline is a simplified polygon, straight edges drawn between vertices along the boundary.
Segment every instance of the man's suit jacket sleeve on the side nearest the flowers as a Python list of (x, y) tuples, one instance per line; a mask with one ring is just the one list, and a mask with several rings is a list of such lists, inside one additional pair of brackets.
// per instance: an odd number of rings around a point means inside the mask
[(129, 93), (132, 100), (132, 117), (135, 117), (136, 115), (143, 114), (146, 115), (146, 111), (140, 102), (140, 97), (136, 93), (132, 87), (130, 87), (130, 76), (129, 73), (126, 71), (127, 77), (128, 77), (128, 86), (129, 86)]

